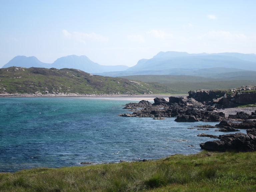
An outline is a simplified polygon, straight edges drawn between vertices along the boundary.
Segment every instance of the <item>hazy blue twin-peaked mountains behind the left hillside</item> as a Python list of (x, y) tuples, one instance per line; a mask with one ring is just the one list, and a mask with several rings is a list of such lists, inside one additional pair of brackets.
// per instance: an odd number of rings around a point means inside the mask
[(117, 66), (106, 66), (100, 65), (91, 61), (88, 57), (82, 55), (69, 55), (66, 57), (58, 58), (53, 63), (43, 63), (39, 61), (36, 57), (26, 57), (26, 56), (16, 56), (12, 60), (10, 60), (7, 64), (5, 64), (2, 68), (8, 67), (41, 67), (41, 68), (73, 68), (85, 71), (87, 73), (103, 73), (110, 71), (124, 71), (128, 69), (128, 66), (125, 65), (117, 65)]

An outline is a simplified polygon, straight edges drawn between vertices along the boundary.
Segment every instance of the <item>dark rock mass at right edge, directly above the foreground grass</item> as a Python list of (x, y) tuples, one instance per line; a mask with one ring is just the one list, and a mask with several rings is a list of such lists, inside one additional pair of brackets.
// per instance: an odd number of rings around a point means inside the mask
[(220, 135), (220, 140), (201, 143), (201, 149), (209, 151), (255, 151), (256, 150), (256, 129), (247, 130), (247, 134), (235, 133)]

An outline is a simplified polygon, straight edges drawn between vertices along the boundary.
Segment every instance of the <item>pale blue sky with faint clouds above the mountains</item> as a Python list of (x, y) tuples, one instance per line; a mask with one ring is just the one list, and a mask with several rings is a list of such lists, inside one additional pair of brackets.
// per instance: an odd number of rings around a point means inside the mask
[(0, 68), (17, 55), (134, 66), (160, 51), (256, 54), (256, 0), (0, 0)]

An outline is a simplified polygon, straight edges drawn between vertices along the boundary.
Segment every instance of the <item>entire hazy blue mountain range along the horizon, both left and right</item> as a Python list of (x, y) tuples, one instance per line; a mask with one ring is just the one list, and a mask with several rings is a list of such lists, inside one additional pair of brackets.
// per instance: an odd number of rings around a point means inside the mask
[(43, 63), (36, 57), (16, 56), (5, 64), (3, 68), (11, 66), (57, 69), (74, 68), (87, 73), (112, 77), (128, 75), (192, 75), (232, 78), (233, 76), (246, 76), (247, 74), (254, 75), (256, 71), (256, 54), (189, 54), (186, 52), (168, 51), (159, 52), (151, 59), (141, 59), (133, 67), (124, 65), (104, 66), (91, 61), (86, 56), (76, 55), (61, 57), (52, 64)]

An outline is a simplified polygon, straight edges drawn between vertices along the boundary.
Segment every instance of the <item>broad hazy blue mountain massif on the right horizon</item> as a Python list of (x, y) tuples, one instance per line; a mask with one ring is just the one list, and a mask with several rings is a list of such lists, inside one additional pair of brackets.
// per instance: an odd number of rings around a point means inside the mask
[[(255, 75), (256, 54), (189, 54), (186, 52), (168, 51), (159, 52), (151, 59), (141, 59), (135, 66), (128, 68), (126, 71), (97, 74), (112, 77), (131, 75), (190, 75), (231, 78), (233, 77), (232, 75), (238, 76), (240, 72), (246, 75), (249, 71), (251, 72), (249, 76)], [(230, 72), (232, 74), (228, 74)]]

